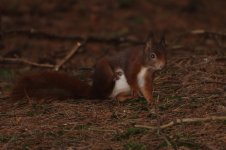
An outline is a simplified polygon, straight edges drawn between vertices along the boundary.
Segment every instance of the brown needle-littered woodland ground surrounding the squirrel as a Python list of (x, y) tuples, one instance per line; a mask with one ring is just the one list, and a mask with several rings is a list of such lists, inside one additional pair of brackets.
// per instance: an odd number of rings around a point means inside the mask
[[(157, 35), (165, 31), (168, 46), (167, 67), (155, 79), (158, 115), (144, 99), (12, 107), (6, 97), (17, 76), (51, 69), (0, 61), (0, 149), (226, 149), (226, 120), (173, 125), (160, 135), (135, 127), (226, 115), (226, 1), (1, 0), (0, 8), (1, 59), (56, 64), (76, 43), (35, 31), (137, 41), (149, 30)], [(131, 46), (88, 40), (61, 70), (88, 78), (90, 70), (81, 68), (92, 68), (101, 56)]]

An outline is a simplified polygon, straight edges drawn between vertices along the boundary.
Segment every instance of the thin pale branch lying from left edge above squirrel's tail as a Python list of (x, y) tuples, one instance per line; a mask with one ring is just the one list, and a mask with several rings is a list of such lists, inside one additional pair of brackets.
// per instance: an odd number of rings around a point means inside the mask
[(1, 61), (24, 63), (31, 66), (36, 66), (36, 67), (54, 68), (54, 65), (51, 65), (51, 64), (39, 64), (23, 58), (3, 58), (0, 56), (0, 62)]

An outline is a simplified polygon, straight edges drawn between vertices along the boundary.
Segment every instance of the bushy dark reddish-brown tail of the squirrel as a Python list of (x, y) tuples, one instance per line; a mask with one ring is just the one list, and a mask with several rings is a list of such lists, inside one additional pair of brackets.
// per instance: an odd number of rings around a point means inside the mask
[(29, 73), (14, 86), (11, 99), (89, 98), (91, 86), (76, 77), (59, 72)]

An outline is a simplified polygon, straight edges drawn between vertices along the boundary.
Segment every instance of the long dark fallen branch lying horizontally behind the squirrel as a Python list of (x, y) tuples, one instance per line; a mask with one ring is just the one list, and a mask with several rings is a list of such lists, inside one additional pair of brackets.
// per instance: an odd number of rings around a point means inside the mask
[(46, 33), (42, 31), (37, 31), (34, 29), (26, 29), (26, 30), (11, 30), (11, 31), (3, 31), (2, 37), (9, 38), (12, 36), (25, 36), (29, 38), (36, 39), (48, 39), (48, 40), (63, 40), (63, 41), (86, 41), (90, 43), (112, 43), (112, 44), (120, 44), (120, 43), (130, 43), (130, 44), (143, 44), (144, 42), (132, 40), (124, 37), (98, 37), (98, 36), (63, 36), (52, 33)]

